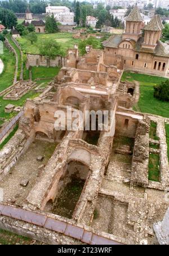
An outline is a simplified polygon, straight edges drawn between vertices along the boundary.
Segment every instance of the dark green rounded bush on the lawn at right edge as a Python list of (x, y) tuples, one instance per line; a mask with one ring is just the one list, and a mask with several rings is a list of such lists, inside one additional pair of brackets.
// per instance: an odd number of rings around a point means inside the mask
[(154, 97), (161, 101), (169, 101), (169, 80), (154, 86)]

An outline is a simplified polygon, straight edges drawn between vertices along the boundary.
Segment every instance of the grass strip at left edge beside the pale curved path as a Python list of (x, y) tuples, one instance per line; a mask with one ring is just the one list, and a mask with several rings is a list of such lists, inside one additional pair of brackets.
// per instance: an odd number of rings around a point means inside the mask
[(14, 53), (10, 53), (9, 50), (4, 47), (3, 54), (0, 54), (0, 58), (4, 64), (3, 72), (0, 75), (0, 92), (2, 92), (4, 89), (12, 86), (13, 84), (15, 72), (15, 56)]

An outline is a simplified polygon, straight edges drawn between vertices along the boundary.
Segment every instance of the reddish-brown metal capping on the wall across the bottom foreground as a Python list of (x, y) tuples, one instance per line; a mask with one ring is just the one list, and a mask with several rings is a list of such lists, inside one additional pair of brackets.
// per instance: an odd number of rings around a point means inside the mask
[(122, 245), (119, 242), (113, 241), (111, 238), (100, 236), (96, 233), (87, 231), (77, 225), (70, 224), (66, 221), (52, 219), (43, 214), (16, 208), (14, 206), (5, 206), (0, 204), (0, 215), (12, 217), (17, 220), (26, 221), (39, 227), (50, 229), (51, 231), (59, 232), (65, 236), (73, 237), (77, 240), (90, 245)]

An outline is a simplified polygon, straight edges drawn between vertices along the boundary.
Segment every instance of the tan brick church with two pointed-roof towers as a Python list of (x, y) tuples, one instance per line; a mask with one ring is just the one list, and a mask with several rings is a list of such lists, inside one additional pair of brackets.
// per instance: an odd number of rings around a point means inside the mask
[(167, 77), (169, 45), (160, 41), (162, 29), (159, 15), (145, 25), (135, 6), (126, 18), (125, 32), (103, 42), (107, 64), (117, 65), (121, 60), (124, 70)]

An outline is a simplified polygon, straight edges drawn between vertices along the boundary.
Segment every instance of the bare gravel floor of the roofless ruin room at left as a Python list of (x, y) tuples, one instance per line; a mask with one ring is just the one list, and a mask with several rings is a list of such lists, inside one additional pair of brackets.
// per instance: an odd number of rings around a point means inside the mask
[[(35, 140), (23, 156), (17, 161), (10, 173), (0, 182), (4, 192), (4, 202), (11, 201), (22, 205), (29, 191), (38, 179), (39, 166), (46, 164), (52, 156), (56, 145), (54, 143)], [(44, 156), (43, 161), (37, 161), (38, 156)], [(26, 187), (20, 185), (23, 180), (28, 180)]]

